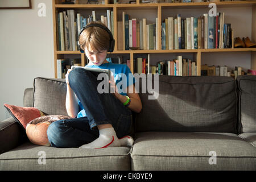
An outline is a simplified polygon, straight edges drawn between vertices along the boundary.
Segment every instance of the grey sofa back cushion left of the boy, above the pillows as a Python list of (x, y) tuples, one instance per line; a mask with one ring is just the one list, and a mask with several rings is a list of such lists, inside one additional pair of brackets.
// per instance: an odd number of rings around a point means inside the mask
[(33, 106), (48, 115), (68, 115), (65, 108), (65, 79), (35, 78)]

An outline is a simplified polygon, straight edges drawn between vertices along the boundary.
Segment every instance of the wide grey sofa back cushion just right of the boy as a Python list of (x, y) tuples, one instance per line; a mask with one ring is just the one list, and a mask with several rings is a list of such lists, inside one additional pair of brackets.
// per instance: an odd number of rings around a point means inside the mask
[(152, 94), (142, 93), (141, 79), (139, 84), (143, 109), (136, 116), (135, 132), (236, 133), (237, 92), (233, 78), (159, 75), (156, 100), (148, 100)]

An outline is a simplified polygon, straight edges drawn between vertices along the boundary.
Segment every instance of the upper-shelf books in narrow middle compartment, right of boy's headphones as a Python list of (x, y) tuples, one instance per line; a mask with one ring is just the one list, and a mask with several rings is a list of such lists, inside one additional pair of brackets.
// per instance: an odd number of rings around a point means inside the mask
[(130, 18), (129, 14), (122, 13), (122, 21), (118, 26), (118, 50), (136, 48), (141, 50), (154, 50), (158, 47), (158, 18), (156, 23), (147, 23), (146, 18), (138, 20)]

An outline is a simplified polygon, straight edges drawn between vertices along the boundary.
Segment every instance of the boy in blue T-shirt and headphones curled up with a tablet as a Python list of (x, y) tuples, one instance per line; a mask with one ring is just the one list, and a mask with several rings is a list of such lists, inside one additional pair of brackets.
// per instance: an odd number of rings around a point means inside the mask
[[(69, 69), (66, 109), (73, 119), (56, 121), (48, 127), (48, 139), (54, 147), (105, 148), (133, 144), (133, 139), (125, 135), (131, 128), (131, 111), (142, 110), (141, 99), (135, 92), (134, 79), (133, 82), (127, 79), (127, 88), (117, 92), (118, 73), (125, 73), (129, 78), (131, 71), (127, 65), (106, 60), (113, 36), (102, 26), (106, 27), (99, 22), (87, 24), (79, 34), (79, 44), (89, 59), (86, 67), (114, 69), (110, 83), (115, 92), (100, 94), (96, 76), (83, 68)], [(129, 89), (133, 93), (126, 93)]]

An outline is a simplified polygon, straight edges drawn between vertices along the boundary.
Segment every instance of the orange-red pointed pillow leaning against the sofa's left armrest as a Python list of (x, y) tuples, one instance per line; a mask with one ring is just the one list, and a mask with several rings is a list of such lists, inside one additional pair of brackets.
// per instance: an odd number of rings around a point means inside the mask
[(32, 119), (46, 115), (35, 107), (20, 107), (9, 104), (4, 104), (4, 106), (9, 111), (11, 116), (20, 125), (22, 125), (24, 129), (26, 129), (27, 123), (30, 122)]

